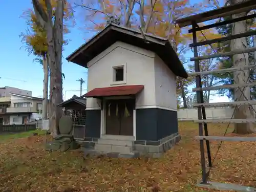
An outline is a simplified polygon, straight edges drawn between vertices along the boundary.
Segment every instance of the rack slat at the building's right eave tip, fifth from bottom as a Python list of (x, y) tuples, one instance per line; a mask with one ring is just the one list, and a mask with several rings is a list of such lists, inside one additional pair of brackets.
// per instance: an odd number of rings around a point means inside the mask
[(249, 70), (251, 68), (256, 68), (256, 65), (235, 67), (235, 68), (228, 68), (228, 69), (217, 69), (217, 70), (212, 70), (212, 71), (194, 72), (194, 73), (188, 73), (188, 76), (193, 77), (193, 76), (197, 76), (197, 75), (222, 74), (222, 73), (229, 73), (229, 72), (234, 72), (234, 71)]

